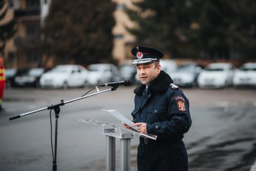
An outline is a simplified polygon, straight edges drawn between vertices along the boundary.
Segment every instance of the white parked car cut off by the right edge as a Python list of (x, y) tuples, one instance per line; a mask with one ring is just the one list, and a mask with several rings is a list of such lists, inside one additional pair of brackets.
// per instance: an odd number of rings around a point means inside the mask
[(233, 78), (233, 86), (256, 87), (256, 63), (245, 63), (239, 70), (236, 70)]

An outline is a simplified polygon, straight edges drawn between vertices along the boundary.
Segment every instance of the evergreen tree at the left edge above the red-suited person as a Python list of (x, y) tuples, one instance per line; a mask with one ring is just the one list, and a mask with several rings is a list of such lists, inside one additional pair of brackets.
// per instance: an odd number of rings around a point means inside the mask
[(0, 0), (0, 53), (3, 53), (6, 41), (15, 34), (15, 19), (5, 20), (7, 10), (7, 1)]

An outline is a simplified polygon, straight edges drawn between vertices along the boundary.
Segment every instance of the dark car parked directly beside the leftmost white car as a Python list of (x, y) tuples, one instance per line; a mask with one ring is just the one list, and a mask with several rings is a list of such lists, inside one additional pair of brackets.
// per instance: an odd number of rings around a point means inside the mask
[(45, 72), (44, 68), (32, 68), (26, 72), (19, 73), (15, 76), (15, 84), (20, 87), (32, 86), (40, 87), (39, 80), (41, 75)]

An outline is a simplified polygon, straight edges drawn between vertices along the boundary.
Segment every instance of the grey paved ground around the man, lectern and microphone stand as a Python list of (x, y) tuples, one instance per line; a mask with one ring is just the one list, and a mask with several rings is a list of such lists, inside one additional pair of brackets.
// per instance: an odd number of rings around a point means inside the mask
[[(58, 119), (58, 170), (105, 170), (105, 136), (102, 135), (102, 128), (78, 122), (77, 119), (93, 118), (119, 124), (101, 109), (116, 109), (131, 118), (133, 89), (119, 87), (116, 91), (61, 107)], [(4, 110), (0, 113), (0, 171), (45, 171), (52, 167), (49, 110), (13, 121), (9, 121), (9, 117), (56, 104), (61, 99), (75, 99), (87, 90), (6, 90)], [(189, 170), (253, 169), (256, 159), (256, 90), (183, 91), (190, 101), (192, 115), (192, 127), (183, 139), (189, 154)], [(135, 138), (131, 149), (132, 171), (137, 170), (137, 145), (138, 139)], [(118, 147), (119, 141), (116, 142), (117, 168)]]

